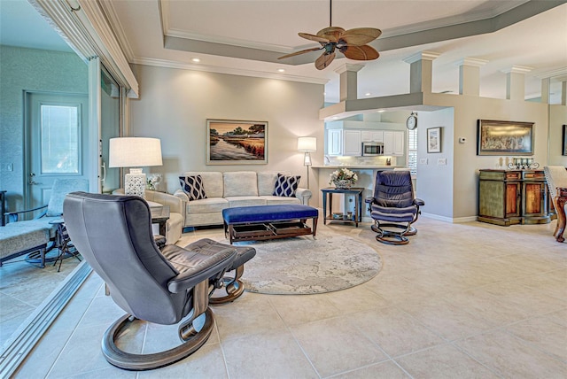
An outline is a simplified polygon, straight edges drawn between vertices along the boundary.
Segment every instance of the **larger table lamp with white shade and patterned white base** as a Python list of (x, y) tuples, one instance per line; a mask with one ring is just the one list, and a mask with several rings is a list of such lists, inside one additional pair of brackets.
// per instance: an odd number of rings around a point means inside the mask
[[(159, 138), (118, 137), (109, 141), (109, 167), (130, 167), (124, 177), (124, 193), (144, 197), (146, 177), (143, 166), (161, 166)], [(133, 168), (134, 167), (134, 168)]]

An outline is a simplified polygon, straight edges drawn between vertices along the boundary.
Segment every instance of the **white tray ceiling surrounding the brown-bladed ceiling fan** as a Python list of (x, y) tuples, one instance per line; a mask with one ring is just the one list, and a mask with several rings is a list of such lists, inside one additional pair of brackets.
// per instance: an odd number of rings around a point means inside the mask
[[(359, 63), (338, 58), (330, 67), (318, 71), (313, 62), (319, 51), (276, 59), (292, 51), (318, 46), (300, 38), (298, 32), (316, 34), (329, 26), (328, 0), (99, 2), (131, 63), (326, 83), (327, 102), (338, 101), (335, 69), (345, 63)], [(554, 78), (552, 92), (557, 96), (561, 90), (559, 81), (567, 78), (567, 4), (564, 3), (335, 0), (332, 25), (377, 27), (383, 31), (371, 43), (381, 57), (364, 62), (365, 67), (359, 72), (359, 98), (407, 93), (409, 65), (403, 59), (423, 50), (440, 53), (433, 61), (434, 92), (458, 93), (456, 63), (463, 58), (478, 58), (487, 60), (480, 69), (481, 96), (505, 97), (503, 71), (512, 66), (532, 68), (525, 77), (526, 97), (540, 96), (543, 77)], [(550, 4), (560, 5), (541, 12), (542, 7)], [(30, 22), (29, 16), (24, 17), (26, 5), (33, 9), (25, 0), (0, 0), (2, 43), (35, 47), (29, 41), (37, 43), (40, 36), (47, 36), (26, 24)], [(19, 21), (18, 17), (27, 21)], [(35, 15), (32, 19), (33, 25), (41, 23), (37, 18)], [(200, 62), (194, 63), (192, 58), (199, 58)], [(285, 73), (278, 73), (280, 68)]]

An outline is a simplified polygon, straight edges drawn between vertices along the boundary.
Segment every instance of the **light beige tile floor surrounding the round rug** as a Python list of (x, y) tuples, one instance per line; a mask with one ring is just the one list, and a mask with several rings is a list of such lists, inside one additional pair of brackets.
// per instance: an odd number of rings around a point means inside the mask
[[(421, 218), (406, 246), (377, 243), (368, 224), (321, 224), (375, 247), (382, 271), (321, 295), (245, 292), (214, 307), (213, 335), (198, 352), (141, 373), (103, 358), (101, 336), (122, 311), (91, 275), (15, 377), (565, 378), (567, 244), (551, 236), (555, 222)], [(180, 244), (202, 237), (222, 231), (191, 232)], [(144, 352), (175, 343), (176, 328), (144, 324), (128, 341)]]

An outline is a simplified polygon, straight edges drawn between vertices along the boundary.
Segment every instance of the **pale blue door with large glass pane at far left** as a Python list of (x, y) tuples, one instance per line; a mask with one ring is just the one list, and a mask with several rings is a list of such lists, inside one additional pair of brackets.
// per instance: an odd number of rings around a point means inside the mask
[(26, 95), (26, 208), (31, 209), (48, 204), (56, 179), (89, 179), (85, 172), (89, 98), (75, 94)]

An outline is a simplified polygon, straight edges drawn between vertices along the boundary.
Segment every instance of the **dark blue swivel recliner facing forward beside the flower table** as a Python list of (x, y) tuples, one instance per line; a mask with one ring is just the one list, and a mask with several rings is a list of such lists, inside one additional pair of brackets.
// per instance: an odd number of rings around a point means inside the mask
[[(414, 236), (416, 222), (421, 213), (422, 199), (414, 197), (409, 171), (379, 171), (374, 185), (374, 197), (367, 197), (370, 217), (374, 220), (372, 230), (377, 232), (377, 241), (383, 244), (408, 244), (407, 236)], [(400, 230), (401, 229), (401, 230)]]

